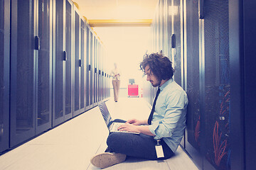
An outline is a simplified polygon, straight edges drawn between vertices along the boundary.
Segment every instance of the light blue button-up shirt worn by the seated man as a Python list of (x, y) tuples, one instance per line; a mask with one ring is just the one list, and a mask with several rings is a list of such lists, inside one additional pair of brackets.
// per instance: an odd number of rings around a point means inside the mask
[(156, 135), (155, 140), (163, 139), (176, 152), (186, 128), (188, 97), (173, 79), (166, 81), (160, 90), (149, 130)]

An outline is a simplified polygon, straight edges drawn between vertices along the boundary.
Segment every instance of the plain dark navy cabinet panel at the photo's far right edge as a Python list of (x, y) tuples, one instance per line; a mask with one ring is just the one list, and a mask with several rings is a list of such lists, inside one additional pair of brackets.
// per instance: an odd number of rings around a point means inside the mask
[(255, 1), (233, 1), (230, 23), (230, 145), (232, 169), (254, 169), (255, 162)]

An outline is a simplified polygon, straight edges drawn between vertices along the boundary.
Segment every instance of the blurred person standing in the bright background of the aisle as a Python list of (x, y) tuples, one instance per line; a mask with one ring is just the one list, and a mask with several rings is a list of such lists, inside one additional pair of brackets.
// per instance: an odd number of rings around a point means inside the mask
[(114, 69), (112, 69), (110, 76), (113, 77), (112, 84), (114, 89), (114, 101), (118, 101), (119, 97), (119, 88), (120, 88), (120, 72), (119, 69), (117, 69), (117, 63), (114, 63)]

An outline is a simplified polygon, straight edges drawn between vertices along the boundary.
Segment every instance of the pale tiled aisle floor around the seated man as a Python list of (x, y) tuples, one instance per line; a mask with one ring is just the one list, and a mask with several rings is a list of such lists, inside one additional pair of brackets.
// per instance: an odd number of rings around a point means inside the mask
[[(142, 98), (107, 101), (112, 118), (144, 119), (150, 108)], [(97, 169), (90, 158), (106, 149), (108, 131), (99, 108), (79, 115), (63, 125), (26, 142), (0, 157), (1, 170)], [(108, 169), (196, 169), (191, 159), (178, 148), (176, 156), (163, 162), (128, 159)]]

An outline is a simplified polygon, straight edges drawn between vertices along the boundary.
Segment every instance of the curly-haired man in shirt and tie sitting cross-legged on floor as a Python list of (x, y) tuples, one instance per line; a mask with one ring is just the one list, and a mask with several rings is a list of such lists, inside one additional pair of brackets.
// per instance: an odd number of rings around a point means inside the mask
[(139, 132), (112, 132), (107, 137), (107, 152), (92, 157), (91, 163), (107, 168), (124, 162), (127, 156), (150, 160), (169, 159), (174, 155), (186, 127), (188, 98), (181, 86), (176, 84), (171, 61), (161, 53), (145, 55), (140, 69), (146, 80), (158, 91), (148, 120), (132, 119), (118, 130)]

